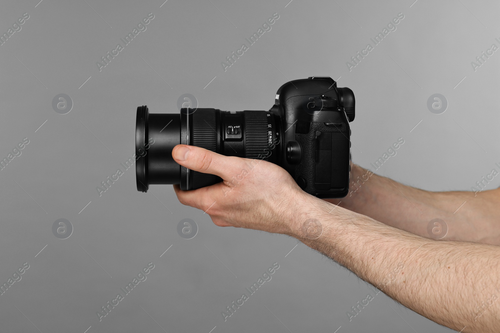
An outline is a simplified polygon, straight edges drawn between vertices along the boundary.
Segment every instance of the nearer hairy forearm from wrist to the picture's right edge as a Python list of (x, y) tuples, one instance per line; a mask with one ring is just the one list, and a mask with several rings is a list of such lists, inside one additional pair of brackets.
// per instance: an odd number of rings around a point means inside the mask
[[(466, 327), (462, 332), (500, 330), (494, 303), (500, 248), (425, 239), (340, 207), (331, 211), (333, 205), (312, 197), (308, 206), (294, 220), (291, 236), (438, 324)], [(321, 232), (304, 228), (311, 220), (320, 222)]]

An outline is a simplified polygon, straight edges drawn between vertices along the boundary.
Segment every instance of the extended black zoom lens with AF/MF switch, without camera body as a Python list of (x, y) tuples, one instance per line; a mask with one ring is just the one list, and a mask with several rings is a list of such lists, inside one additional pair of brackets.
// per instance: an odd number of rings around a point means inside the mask
[(137, 190), (147, 192), (151, 184), (179, 184), (182, 190), (191, 190), (221, 181), (218, 176), (177, 164), (171, 154), (177, 144), (279, 165), (280, 133), (279, 117), (268, 111), (182, 108), (180, 114), (172, 114), (149, 113), (147, 106), (139, 106), (135, 126)]

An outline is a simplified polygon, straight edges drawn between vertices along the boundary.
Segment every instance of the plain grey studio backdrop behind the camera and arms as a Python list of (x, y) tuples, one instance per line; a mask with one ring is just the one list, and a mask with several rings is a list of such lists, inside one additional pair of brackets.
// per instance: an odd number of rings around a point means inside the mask
[[(369, 167), (402, 137), (376, 173), (469, 190), (500, 161), (500, 55), (475, 72), (470, 65), (500, 46), (498, 2), (162, 2), (2, 1), (2, 33), (22, 13), (30, 18), (0, 46), (0, 156), (30, 143), (0, 171), (0, 282), (30, 268), (0, 296), (1, 331), (449, 331), (382, 294), (349, 322), (346, 312), (373, 288), (294, 239), (216, 227), (170, 186), (139, 193), (133, 169), (101, 197), (95, 188), (133, 154), (138, 105), (177, 112), (177, 98), (191, 93), (200, 107), (267, 110), (287, 80), (329, 75), (356, 96), (356, 163)], [(149, 12), (146, 31), (99, 72), (95, 62)], [(220, 62), (274, 12), (272, 29), (224, 72)], [(349, 72), (345, 62), (398, 12), (397, 29)], [(65, 115), (51, 107), (59, 93), (73, 101)], [(426, 107), (434, 93), (448, 101), (439, 115)], [(51, 231), (60, 218), (73, 225), (64, 240)], [(184, 218), (198, 225), (190, 240), (176, 232)], [(149, 262), (147, 280), (99, 322), (95, 313)], [(221, 311), (274, 262), (272, 280), (224, 322)]]

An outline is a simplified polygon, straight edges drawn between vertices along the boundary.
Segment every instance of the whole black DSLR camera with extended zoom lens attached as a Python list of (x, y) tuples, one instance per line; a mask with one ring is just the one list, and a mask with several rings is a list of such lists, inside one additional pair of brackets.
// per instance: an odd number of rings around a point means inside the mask
[[(139, 106), (137, 190), (147, 192), (151, 184), (179, 184), (182, 190), (192, 190), (220, 182), (218, 176), (189, 170), (173, 160), (172, 148), (186, 144), (269, 161), (313, 196), (345, 197), (354, 103), (351, 89), (337, 87), (327, 76), (311, 76), (279, 87), (268, 111), (181, 108), (174, 114), (149, 113), (147, 106)], [(154, 144), (147, 144), (151, 139)]]

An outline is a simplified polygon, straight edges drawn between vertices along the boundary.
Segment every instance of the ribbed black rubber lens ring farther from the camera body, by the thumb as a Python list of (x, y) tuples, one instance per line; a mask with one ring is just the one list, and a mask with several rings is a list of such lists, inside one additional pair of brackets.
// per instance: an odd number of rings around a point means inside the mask
[[(215, 151), (217, 147), (217, 131), (215, 109), (197, 109), (192, 114), (191, 145)], [(220, 177), (193, 171), (192, 189), (198, 189), (222, 181)]]

